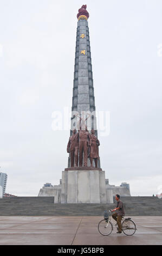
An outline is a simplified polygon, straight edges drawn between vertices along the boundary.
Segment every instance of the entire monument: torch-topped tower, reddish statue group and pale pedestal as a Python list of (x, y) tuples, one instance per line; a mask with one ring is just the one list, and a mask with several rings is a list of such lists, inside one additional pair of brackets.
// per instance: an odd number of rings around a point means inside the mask
[(99, 160), (100, 142), (96, 129), (87, 21), (89, 14), (86, 8), (86, 5), (82, 5), (77, 14), (72, 118), (67, 145), (67, 152), (70, 154), (68, 168), (62, 172), (61, 203), (108, 202), (105, 172), (100, 168)]

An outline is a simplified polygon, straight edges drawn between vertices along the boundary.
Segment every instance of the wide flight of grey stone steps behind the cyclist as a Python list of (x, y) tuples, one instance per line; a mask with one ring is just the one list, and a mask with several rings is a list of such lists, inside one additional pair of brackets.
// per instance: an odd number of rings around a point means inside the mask
[[(162, 216), (162, 199), (121, 197), (128, 216)], [(0, 216), (102, 216), (114, 204), (54, 204), (54, 197), (0, 199)]]

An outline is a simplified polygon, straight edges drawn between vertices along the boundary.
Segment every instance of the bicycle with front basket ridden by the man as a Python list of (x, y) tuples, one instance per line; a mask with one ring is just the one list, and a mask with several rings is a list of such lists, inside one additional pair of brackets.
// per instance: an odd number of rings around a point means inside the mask
[[(133, 235), (137, 230), (134, 221), (131, 218), (124, 218), (121, 223), (121, 229), (125, 235)], [(117, 225), (116, 221), (112, 217), (112, 211), (105, 211), (104, 212), (104, 220), (101, 220), (98, 224), (98, 230), (101, 235), (110, 235), (113, 231), (113, 225)], [(118, 228), (117, 228), (118, 229)]]

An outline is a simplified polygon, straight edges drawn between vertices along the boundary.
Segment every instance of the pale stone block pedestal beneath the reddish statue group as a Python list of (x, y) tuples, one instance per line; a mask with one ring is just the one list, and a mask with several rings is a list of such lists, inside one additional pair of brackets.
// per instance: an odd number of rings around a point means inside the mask
[(105, 172), (100, 168), (66, 168), (62, 172), (61, 203), (107, 203)]

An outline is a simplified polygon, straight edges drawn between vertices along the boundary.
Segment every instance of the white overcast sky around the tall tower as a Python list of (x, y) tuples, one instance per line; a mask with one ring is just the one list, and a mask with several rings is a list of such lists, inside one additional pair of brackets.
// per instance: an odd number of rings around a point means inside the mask
[[(54, 111), (72, 106), (77, 10), (87, 4), (95, 105), (109, 111), (100, 136), (110, 184), (132, 196), (162, 185), (162, 2), (0, 0), (0, 166), (6, 192), (37, 196), (59, 184), (69, 130), (53, 131)], [(159, 51), (159, 52), (158, 52)], [(160, 57), (161, 56), (161, 57)]]

